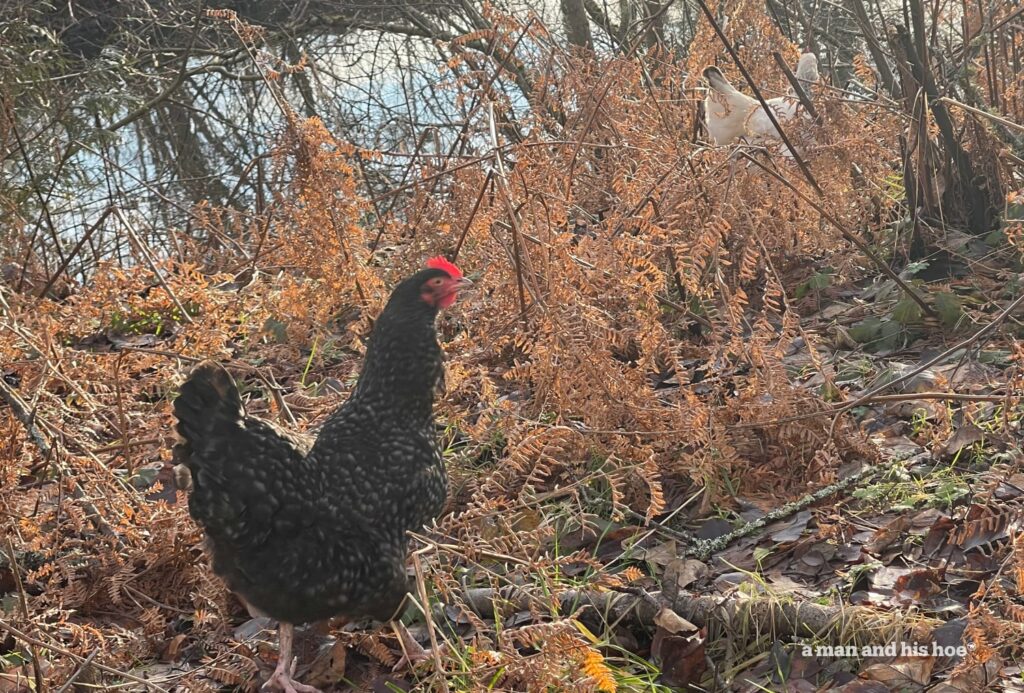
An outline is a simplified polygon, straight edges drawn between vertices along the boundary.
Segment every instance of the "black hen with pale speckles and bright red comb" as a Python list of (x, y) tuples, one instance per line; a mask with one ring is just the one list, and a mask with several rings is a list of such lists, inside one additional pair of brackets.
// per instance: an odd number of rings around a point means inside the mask
[(281, 622), (267, 687), (315, 691), (292, 678), (295, 623), (388, 620), (402, 604), (407, 532), (436, 517), (446, 494), (433, 422), (442, 376), (434, 318), (469, 284), (433, 258), (395, 288), (355, 390), (311, 446), (246, 416), (215, 363), (196, 367), (174, 400), (175, 462), (187, 468), (188, 510), (206, 531), (213, 570), (251, 611)]

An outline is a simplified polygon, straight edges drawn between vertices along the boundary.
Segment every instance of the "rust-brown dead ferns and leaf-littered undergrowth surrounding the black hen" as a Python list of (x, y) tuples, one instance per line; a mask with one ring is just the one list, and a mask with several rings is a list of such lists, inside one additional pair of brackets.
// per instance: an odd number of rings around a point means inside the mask
[[(782, 91), (770, 56), (794, 64), (797, 46), (760, 6), (733, 10), (740, 60)], [(388, 288), (437, 253), (477, 285), (440, 326), (452, 493), (413, 559), (416, 624), (447, 652), (392, 676), (390, 634), (310, 634), (309, 683), (838, 690), (838, 660), (913, 690), (1019, 679), (1024, 215), (1002, 193), (1021, 173), (1001, 138), (1024, 111), (1009, 63), (977, 78), (1000, 90), (994, 120), (948, 99), (944, 116), (926, 110), (937, 94), (912, 55), (900, 64), (924, 86), (903, 75), (902, 96), (823, 89), (821, 122), (795, 126), (813, 127), (805, 172), (689, 136), (694, 76), (723, 54), (710, 24), (681, 67), (656, 51), (581, 57), (537, 21), (492, 19), (487, 40), (531, 78), (529, 111), (512, 118), (490, 89), (498, 62), (439, 66), (475, 103), (475, 153), (416, 157), (397, 191), (369, 194), (362, 171), (381, 155), (282, 97), (258, 210), (201, 206), (187, 231), (166, 229), (165, 252), (113, 209), (97, 224), (130, 250), (58, 293), (28, 223), (12, 229), (0, 690), (256, 690), (273, 660), (265, 623), (211, 575), (171, 484), (175, 388), (214, 358), (250, 413), (314, 427), (347, 392)], [(864, 85), (883, 77), (863, 56), (855, 70)], [(907, 199), (924, 212), (908, 216)], [(975, 232), (982, 214), (1002, 219), (999, 241)], [(885, 276), (918, 247), (970, 271)], [(802, 649), (897, 641), (968, 650)]]

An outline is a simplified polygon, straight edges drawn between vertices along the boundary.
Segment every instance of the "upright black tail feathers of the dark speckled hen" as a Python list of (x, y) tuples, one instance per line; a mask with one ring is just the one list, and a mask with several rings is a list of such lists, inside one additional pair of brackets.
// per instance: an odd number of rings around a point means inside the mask
[[(184, 465), (190, 472), (198, 464), (195, 448), (204, 446), (225, 424), (241, 425), (245, 418), (242, 395), (234, 381), (223, 366), (213, 361), (200, 363), (181, 386), (181, 393), (174, 400), (174, 416), (178, 423), (175, 431), (178, 443), (174, 446), (174, 462)], [(178, 482), (181, 487), (181, 482)]]

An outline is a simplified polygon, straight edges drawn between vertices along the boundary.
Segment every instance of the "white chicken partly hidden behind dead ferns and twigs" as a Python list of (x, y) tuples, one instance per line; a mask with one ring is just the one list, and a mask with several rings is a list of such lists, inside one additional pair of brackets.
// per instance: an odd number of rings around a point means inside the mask
[[(705, 122), (708, 134), (715, 144), (732, 144), (740, 139), (751, 144), (766, 144), (781, 139), (778, 130), (772, 125), (758, 99), (732, 86), (722, 71), (714, 66), (705, 69), (703, 74), (711, 84), (711, 89), (705, 98)], [(814, 53), (804, 53), (800, 56), (797, 79), (803, 83), (805, 92), (810, 93), (810, 86), (818, 81), (818, 59)], [(776, 120), (783, 127), (798, 116), (803, 116), (806, 122), (810, 122), (810, 117), (805, 113), (793, 89), (790, 89), (785, 96), (766, 100), (774, 112)], [(792, 138), (793, 133), (788, 128), (786, 134)], [(785, 149), (784, 145), (782, 149)], [(785, 154), (788, 155), (788, 150)]]

